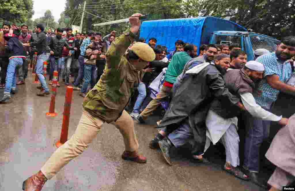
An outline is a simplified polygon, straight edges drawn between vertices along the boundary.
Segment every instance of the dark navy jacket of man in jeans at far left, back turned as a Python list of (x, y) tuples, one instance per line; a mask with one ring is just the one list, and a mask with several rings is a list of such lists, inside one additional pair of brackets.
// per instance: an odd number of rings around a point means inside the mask
[(19, 41), (17, 36), (9, 38), (7, 42), (6, 51), (11, 56), (25, 56), (24, 47), (22, 46), (21, 42)]

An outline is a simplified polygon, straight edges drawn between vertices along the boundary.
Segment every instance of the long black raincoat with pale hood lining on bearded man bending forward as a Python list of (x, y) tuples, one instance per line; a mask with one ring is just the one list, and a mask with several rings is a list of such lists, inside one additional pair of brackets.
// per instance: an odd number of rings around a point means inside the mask
[(225, 87), (222, 74), (213, 64), (208, 65), (198, 74), (186, 75), (158, 127), (167, 126), (168, 132), (172, 132), (179, 127), (183, 120), (187, 120), (194, 132), (196, 142), (192, 154), (196, 154), (204, 152), (205, 120), (210, 103), (214, 98), (217, 98), (220, 101), (229, 100), (232, 104), (237, 104), (240, 98), (232, 95)]

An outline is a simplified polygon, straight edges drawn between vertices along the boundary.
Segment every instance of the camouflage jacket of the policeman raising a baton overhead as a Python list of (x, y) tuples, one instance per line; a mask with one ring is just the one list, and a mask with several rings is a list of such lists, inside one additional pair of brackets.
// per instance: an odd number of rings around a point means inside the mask
[(124, 56), (134, 37), (128, 29), (112, 42), (106, 52), (104, 73), (83, 101), (86, 111), (107, 123), (121, 116), (133, 94), (134, 85), (143, 77), (143, 72), (137, 71)]

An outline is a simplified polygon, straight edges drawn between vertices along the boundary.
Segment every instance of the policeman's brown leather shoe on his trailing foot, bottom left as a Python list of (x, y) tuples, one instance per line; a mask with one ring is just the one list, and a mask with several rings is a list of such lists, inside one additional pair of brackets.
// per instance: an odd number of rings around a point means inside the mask
[(39, 171), (22, 183), (22, 190), (24, 191), (41, 191), (43, 185), (47, 181), (44, 174)]

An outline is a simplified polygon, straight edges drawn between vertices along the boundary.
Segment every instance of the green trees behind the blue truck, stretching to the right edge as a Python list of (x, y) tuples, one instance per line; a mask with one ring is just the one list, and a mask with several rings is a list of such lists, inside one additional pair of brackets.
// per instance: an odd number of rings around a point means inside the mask
[[(67, 0), (65, 15), (74, 25), (80, 25), (83, 2)], [(214, 16), (278, 39), (295, 35), (294, 0), (86, 0), (83, 31), (122, 32), (127, 23), (95, 28), (92, 24), (127, 18), (135, 12), (150, 13), (147, 20)]]

